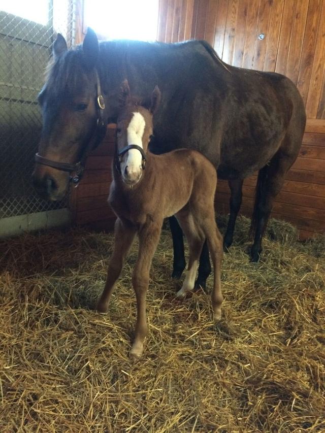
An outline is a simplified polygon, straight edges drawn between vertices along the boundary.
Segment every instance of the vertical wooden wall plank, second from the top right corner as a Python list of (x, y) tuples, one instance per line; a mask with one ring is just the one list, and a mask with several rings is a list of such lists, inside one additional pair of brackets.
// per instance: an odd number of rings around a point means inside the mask
[(309, 0), (297, 87), (306, 104), (322, 0)]

